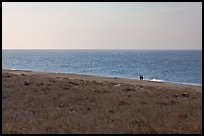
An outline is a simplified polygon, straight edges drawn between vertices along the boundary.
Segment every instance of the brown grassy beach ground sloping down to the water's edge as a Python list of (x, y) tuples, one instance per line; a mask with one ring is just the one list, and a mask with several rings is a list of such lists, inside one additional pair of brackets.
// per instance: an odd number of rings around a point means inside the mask
[(2, 70), (2, 133), (202, 133), (202, 86)]

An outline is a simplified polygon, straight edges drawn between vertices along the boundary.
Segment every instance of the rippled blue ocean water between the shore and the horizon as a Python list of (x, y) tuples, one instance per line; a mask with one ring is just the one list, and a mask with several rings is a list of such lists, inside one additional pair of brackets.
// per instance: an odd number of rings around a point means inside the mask
[(3, 50), (2, 67), (202, 84), (202, 50)]

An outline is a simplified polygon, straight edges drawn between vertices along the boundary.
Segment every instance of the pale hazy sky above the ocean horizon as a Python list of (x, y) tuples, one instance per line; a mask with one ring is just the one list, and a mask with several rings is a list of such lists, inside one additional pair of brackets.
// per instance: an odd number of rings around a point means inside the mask
[(201, 2), (2, 3), (3, 49), (202, 49)]

